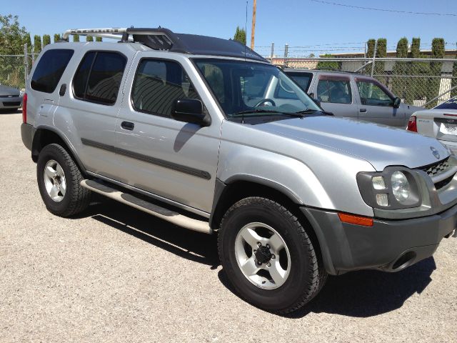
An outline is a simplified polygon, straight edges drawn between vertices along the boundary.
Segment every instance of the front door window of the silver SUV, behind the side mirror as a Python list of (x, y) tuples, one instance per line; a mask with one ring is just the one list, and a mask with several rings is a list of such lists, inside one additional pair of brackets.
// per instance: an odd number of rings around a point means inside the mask
[(171, 117), (176, 99), (200, 99), (186, 71), (174, 61), (141, 61), (131, 100), (138, 111)]

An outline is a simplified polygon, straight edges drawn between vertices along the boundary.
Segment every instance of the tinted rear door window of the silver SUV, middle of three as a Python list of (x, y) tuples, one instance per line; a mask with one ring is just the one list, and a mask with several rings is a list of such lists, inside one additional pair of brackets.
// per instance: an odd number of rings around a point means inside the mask
[(74, 76), (74, 96), (98, 104), (114, 104), (126, 61), (125, 56), (116, 52), (88, 52)]

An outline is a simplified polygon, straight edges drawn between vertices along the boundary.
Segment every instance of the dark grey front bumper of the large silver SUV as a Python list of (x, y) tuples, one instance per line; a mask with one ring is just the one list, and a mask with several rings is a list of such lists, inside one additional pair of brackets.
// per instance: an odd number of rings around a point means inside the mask
[(313, 226), (329, 274), (359, 269), (398, 272), (431, 257), (457, 224), (457, 205), (440, 214), (403, 220), (375, 219), (373, 227), (340, 221), (336, 212), (302, 208)]

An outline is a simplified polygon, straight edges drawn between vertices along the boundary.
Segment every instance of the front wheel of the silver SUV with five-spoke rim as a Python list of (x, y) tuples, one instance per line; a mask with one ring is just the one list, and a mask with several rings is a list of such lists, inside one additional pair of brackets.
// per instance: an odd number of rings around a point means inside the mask
[[(243, 299), (286, 314), (316, 296), (327, 274), (306, 233), (310, 228), (303, 224), (281, 204), (261, 197), (242, 199), (226, 212), (219, 229), (219, 258)], [(268, 254), (278, 257), (268, 260)]]

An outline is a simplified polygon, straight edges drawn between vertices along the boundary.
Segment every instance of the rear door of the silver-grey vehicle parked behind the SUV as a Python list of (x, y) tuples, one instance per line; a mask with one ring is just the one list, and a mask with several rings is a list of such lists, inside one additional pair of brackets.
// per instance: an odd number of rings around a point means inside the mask
[(335, 116), (357, 118), (357, 104), (349, 75), (318, 74), (314, 81), (316, 99), (321, 107)]

